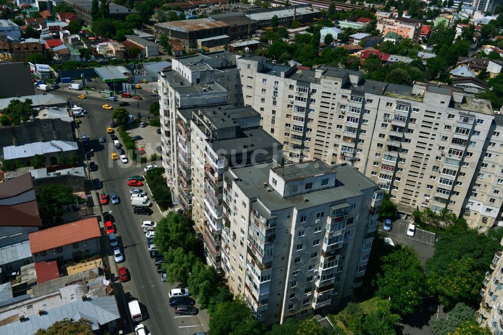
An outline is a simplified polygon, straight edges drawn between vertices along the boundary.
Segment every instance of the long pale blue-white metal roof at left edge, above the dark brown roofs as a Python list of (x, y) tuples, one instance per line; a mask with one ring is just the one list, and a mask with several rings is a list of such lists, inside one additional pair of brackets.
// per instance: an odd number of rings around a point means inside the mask
[(10, 145), (4, 147), (5, 159), (33, 157), (35, 154), (51, 152), (66, 152), (77, 150), (77, 142), (54, 140), (49, 142), (34, 142), (23, 145)]

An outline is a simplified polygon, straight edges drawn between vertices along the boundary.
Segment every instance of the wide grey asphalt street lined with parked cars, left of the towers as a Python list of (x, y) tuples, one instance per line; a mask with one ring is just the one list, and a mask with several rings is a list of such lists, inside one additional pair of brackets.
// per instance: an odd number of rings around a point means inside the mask
[[(129, 325), (124, 329), (124, 333), (130, 333), (131, 321), (129, 313), (124, 312), (124, 306), (127, 301), (135, 298), (138, 299), (144, 317), (143, 323), (148, 332), (153, 334), (177, 334), (188, 335), (197, 331), (206, 331), (208, 329), (208, 316), (206, 310), (202, 311), (197, 316), (176, 316), (174, 309), (169, 305), (169, 297), (167, 295), (171, 288), (176, 287), (171, 283), (161, 281), (161, 276), (157, 274), (153, 260), (149, 258), (147, 251), (147, 243), (145, 234), (141, 228), (143, 220), (158, 221), (161, 219), (161, 214), (154, 204), (151, 209), (153, 214), (135, 215), (130, 204), (129, 190), (126, 185), (128, 177), (133, 175), (143, 175), (143, 168), (146, 164), (133, 164), (131, 162), (124, 164), (120, 160), (113, 161), (110, 157), (111, 152), (115, 152), (110, 135), (106, 133), (106, 128), (110, 124), (112, 111), (102, 109), (102, 105), (108, 104), (114, 108), (118, 107), (121, 101), (128, 101), (132, 108), (128, 108), (130, 113), (136, 115), (137, 106), (133, 99), (119, 98), (118, 102), (107, 101), (98, 93), (90, 93), (86, 99), (77, 99), (76, 96), (83, 94), (83, 91), (57, 90), (56, 94), (66, 99), (71, 99), (71, 103), (81, 105), (82, 108), (88, 111), (85, 117), (81, 117), (81, 124), (77, 131), (80, 136), (86, 134), (90, 139), (90, 149), (94, 149), (94, 156), (85, 163), (94, 161), (98, 165), (98, 170), (91, 172), (91, 179), (99, 178), (103, 183), (103, 189), (97, 192), (105, 192), (107, 195), (116, 193), (120, 197), (120, 203), (112, 205), (108, 203), (102, 206), (102, 212), (112, 211), (114, 217), (114, 226), (117, 232), (119, 246), (124, 255), (125, 261), (116, 265), (112, 262), (110, 269), (116, 280), (115, 285), (121, 285), (117, 281), (117, 267), (125, 266), (128, 270), (130, 280), (122, 283), (122, 291), (124, 295), (121, 297), (120, 289), (116, 290), (117, 300), (120, 305), (123, 322)], [(150, 93), (151, 94), (151, 93)], [(140, 112), (148, 114), (148, 106), (155, 101), (155, 96), (144, 97), (145, 100), (140, 101)], [(155, 128), (149, 127), (155, 132)], [(117, 134), (118, 135), (118, 134)], [(160, 141), (160, 135), (158, 141)], [(107, 141), (99, 142), (99, 137), (104, 136)], [(119, 142), (122, 143), (120, 137)], [(150, 192), (146, 186), (141, 187)], [(103, 223), (101, 223), (103, 226)], [(110, 249), (108, 249), (110, 253)], [(124, 304), (121, 304), (123, 302)], [(196, 306), (198, 306), (196, 304)]]

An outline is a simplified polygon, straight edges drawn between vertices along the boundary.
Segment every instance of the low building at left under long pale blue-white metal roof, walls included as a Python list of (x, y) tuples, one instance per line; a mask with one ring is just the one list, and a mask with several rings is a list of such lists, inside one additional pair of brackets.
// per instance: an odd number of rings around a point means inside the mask
[(45, 164), (58, 164), (59, 156), (69, 157), (77, 154), (77, 142), (52, 140), (48, 142), (34, 142), (23, 145), (4, 147), (4, 159), (14, 159), (21, 164), (29, 165), (36, 154), (45, 156)]

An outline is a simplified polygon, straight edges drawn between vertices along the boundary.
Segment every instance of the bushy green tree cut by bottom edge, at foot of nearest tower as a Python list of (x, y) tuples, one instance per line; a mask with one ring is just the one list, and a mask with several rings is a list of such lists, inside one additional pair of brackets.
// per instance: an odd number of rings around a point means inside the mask
[(218, 304), (215, 312), (210, 315), (208, 335), (264, 333), (264, 325), (251, 315), (251, 310), (241, 297)]

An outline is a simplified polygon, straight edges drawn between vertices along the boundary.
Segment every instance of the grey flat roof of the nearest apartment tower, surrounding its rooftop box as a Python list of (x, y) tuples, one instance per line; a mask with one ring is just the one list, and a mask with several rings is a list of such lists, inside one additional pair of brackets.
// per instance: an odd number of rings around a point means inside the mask
[[(316, 162), (319, 163), (319, 167), (326, 165), (321, 161)], [(302, 164), (300, 163), (300, 165)], [(269, 213), (292, 207), (303, 210), (326, 203), (346, 201), (348, 198), (361, 195), (363, 190), (377, 189), (377, 184), (362, 175), (353, 166), (343, 163), (333, 166), (337, 173), (336, 187), (283, 198), (274, 190), (268, 192), (268, 188), (263, 186), (264, 183), (269, 182), (269, 171), (273, 167), (275, 167), (274, 164), (270, 162), (231, 169), (231, 171), (225, 173), (230, 179), (234, 180), (234, 183), (239, 186), (247, 197), (257, 197), (258, 202), (262, 204), (261, 207)], [(239, 180), (236, 181), (232, 174), (238, 177)], [(254, 204), (254, 206), (256, 205)]]

